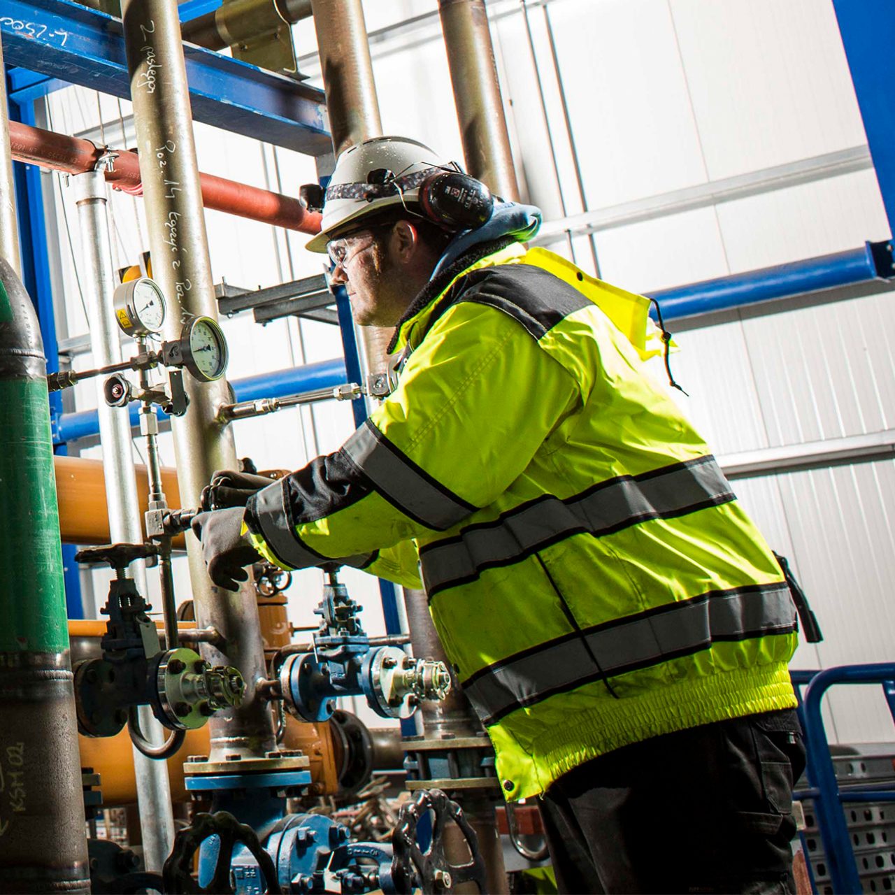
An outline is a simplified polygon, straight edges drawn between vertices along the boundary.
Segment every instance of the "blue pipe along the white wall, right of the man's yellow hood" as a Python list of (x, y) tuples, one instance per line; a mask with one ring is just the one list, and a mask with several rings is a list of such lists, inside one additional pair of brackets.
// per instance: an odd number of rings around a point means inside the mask
[[(886, 271), (885, 276), (891, 276), (891, 271)], [(850, 286), (880, 277), (873, 246), (865, 243), (860, 249), (661, 289), (646, 295), (659, 303), (664, 320), (674, 320), (712, 311), (729, 311), (790, 295), (819, 292), (835, 286)], [(655, 316), (654, 308), (651, 313)]]

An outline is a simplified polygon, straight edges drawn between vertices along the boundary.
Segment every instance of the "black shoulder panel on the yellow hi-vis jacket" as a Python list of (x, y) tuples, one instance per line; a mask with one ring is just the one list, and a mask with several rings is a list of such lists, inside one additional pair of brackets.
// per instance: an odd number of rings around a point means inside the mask
[(531, 264), (473, 270), (451, 287), (442, 302), (433, 321), (458, 302), (487, 304), (518, 320), (537, 339), (569, 314), (592, 304), (575, 286)]

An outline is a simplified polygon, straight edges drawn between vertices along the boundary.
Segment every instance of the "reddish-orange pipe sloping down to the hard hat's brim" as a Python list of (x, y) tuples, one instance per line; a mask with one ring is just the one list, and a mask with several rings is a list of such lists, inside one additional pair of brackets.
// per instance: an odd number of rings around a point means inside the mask
[[(62, 133), (44, 131), (28, 124), (10, 122), (10, 145), (16, 161), (51, 168), (65, 174), (93, 171), (99, 158), (110, 151), (95, 146), (89, 140), (68, 137)], [(116, 190), (142, 194), (140, 163), (131, 150), (118, 153), (113, 170), (105, 172), (106, 182)], [(301, 233), (320, 233), (320, 214), (305, 209), (299, 200), (279, 192), (261, 190), (247, 183), (236, 183), (210, 174), (200, 174), (202, 203), (207, 209), (226, 211), (237, 217), (247, 217), (262, 224), (298, 230)]]

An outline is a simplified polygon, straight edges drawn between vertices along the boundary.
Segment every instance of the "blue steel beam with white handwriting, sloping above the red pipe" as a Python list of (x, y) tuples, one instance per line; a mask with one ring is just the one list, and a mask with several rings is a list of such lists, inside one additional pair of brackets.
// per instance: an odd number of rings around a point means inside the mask
[[(4, 61), (131, 97), (121, 20), (69, 0), (2, 0)], [(323, 92), (184, 44), (192, 115), (202, 124), (307, 155), (332, 151)]]

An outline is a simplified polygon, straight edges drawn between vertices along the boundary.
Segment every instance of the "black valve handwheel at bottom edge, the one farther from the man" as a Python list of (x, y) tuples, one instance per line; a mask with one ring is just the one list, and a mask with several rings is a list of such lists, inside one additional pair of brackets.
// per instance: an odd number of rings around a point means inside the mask
[[(220, 848), (217, 852), (214, 874), (207, 886), (200, 886), (192, 878), (192, 856), (209, 836), (219, 838)], [(258, 862), (267, 895), (282, 895), (277, 868), (273, 859), (261, 847), (257, 834), (248, 824), (239, 823), (233, 814), (228, 814), (226, 811), (196, 814), (190, 826), (178, 831), (174, 848), (171, 849), (171, 854), (162, 870), (167, 895), (218, 895), (218, 893), (234, 895), (230, 865), (233, 861), (233, 848), (237, 842), (242, 842)]]

